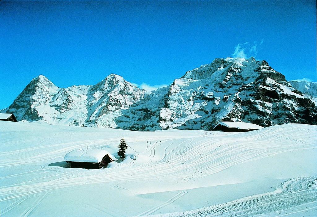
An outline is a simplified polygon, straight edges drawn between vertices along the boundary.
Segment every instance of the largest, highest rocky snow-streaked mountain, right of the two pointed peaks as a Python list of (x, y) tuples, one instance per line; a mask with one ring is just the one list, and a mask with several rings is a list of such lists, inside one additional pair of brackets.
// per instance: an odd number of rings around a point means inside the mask
[[(314, 100), (293, 88), (266, 61), (254, 58), (215, 59), (125, 112), (133, 114), (131, 130), (210, 130), (221, 120), (261, 126), (317, 124)], [(125, 117), (119, 117), (121, 123), (129, 123), (131, 117)]]

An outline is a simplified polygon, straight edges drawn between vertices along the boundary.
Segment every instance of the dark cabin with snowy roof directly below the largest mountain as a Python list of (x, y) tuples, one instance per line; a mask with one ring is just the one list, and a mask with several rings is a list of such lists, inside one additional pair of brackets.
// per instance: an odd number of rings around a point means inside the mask
[(245, 122), (233, 122), (233, 121), (221, 121), (212, 130), (220, 130), (223, 132), (246, 132), (251, 130), (260, 130), (263, 127), (245, 123)]

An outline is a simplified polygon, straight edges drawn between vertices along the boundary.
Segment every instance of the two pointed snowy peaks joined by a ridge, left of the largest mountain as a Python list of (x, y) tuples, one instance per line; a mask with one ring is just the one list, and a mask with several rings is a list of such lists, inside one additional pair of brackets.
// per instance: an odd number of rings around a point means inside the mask
[(116, 127), (113, 117), (143, 98), (145, 92), (114, 74), (93, 86), (68, 88), (58, 88), (40, 75), (2, 112), (14, 113), (18, 120)]

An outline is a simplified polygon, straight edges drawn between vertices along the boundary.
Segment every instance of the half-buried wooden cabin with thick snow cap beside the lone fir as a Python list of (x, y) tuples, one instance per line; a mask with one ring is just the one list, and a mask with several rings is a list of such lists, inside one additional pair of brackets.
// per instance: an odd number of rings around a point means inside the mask
[(116, 159), (110, 152), (102, 149), (73, 150), (65, 155), (64, 160), (70, 167), (100, 169)]

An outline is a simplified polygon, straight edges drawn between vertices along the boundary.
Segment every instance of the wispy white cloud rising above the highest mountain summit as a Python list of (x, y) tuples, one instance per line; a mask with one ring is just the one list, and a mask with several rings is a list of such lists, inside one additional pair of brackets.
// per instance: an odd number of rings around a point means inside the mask
[(245, 42), (243, 44), (237, 44), (235, 46), (235, 51), (232, 54), (233, 58), (249, 58), (256, 57), (259, 46), (263, 44), (264, 39), (260, 42), (254, 41), (253, 43)]

